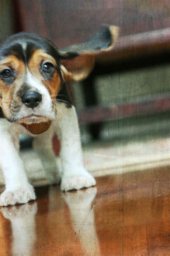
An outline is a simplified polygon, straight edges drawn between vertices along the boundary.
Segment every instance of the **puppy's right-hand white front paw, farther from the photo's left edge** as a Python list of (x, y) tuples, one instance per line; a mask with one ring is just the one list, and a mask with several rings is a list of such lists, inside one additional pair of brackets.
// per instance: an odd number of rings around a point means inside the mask
[(96, 181), (87, 171), (77, 174), (64, 174), (61, 180), (61, 190), (79, 190), (95, 186)]

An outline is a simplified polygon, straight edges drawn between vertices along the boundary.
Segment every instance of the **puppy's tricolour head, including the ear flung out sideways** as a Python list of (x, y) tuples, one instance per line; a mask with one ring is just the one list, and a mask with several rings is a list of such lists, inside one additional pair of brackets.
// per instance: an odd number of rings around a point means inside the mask
[(5, 118), (27, 124), (55, 118), (63, 82), (88, 76), (95, 54), (111, 47), (117, 34), (117, 27), (104, 26), (86, 42), (63, 50), (34, 33), (9, 37), (0, 47), (0, 107)]

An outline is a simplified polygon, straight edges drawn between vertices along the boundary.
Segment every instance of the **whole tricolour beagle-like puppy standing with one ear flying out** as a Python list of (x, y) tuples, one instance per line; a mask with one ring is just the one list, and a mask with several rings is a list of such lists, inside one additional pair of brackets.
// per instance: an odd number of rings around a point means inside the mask
[[(76, 111), (65, 81), (88, 76), (95, 54), (112, 47), (117, 35), (117, 27), (103, 26), (85, 42), (58, 50), (42, 36), (21, 32), (1, 45), (0, 165), (5, 180), (1, 206), (36, 198), (19, 157), (19, 134), (35, 137), (34, 148), (51, 183), (61, 181), (65, 191), (95, 185), (82, 163)], [(54, 133), (61, 144), (62, 179), (52, 151)]]

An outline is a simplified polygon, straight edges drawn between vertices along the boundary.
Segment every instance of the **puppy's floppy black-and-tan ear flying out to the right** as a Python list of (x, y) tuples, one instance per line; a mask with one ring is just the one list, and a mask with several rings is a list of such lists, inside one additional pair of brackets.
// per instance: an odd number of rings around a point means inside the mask
[(110, 50), (119, 34), (116, 26), (104, 25), (86, 41), (69, 45), (60, 51), (61, 72), (65, 81), (80, 81), (86, 78), (94, 67), (95, 55)]

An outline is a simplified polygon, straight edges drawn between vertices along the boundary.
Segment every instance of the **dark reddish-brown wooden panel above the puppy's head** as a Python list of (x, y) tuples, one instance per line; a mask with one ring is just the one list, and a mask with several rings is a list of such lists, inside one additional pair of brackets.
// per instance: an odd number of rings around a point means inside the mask
[(15, 0), (20, 29), (40, 33), (58, 48), (86, 39), (103, 23), (121, 36), (170, 26), (169, 0)]

